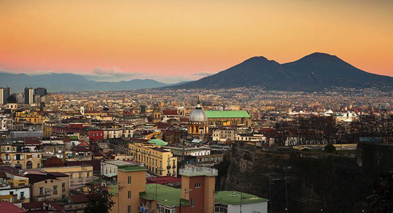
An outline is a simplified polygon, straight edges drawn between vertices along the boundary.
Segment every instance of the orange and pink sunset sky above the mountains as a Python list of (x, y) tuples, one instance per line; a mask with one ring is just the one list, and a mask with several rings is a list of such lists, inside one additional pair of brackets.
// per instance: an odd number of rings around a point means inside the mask
[(393, 1), (0, 0), (0, 72), (196, 80), (312, 52), (393, 76)]

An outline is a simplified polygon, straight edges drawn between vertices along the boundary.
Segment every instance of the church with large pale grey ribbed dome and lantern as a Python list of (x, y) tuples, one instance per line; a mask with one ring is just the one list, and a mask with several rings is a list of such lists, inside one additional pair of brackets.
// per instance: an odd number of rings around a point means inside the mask
[(191, 112), (188, 119), (188, 134), (205, 135), (209, 132), (208, 117), (202, 110), (198, 99), (197, 107)]

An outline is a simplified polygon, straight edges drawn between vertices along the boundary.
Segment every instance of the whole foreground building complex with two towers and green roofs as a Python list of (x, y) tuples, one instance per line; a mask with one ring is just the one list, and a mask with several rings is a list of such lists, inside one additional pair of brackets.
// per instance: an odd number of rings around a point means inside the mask
[(237, 191), (215, 192), (218, 175), (215, 169), (180, 169), (181, 188), (146, 184), (146, 171), (140, 166), (118, 167), (117, 184), (107, 186), (115, 203), (110, 212), (265, 213), (268, 210), (267, 199)]

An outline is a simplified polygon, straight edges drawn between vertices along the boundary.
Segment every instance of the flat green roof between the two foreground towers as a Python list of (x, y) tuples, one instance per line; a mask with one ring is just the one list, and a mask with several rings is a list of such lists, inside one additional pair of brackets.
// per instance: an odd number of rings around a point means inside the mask
[[(146, 191), (140, 192), (139, 196), (145, 200), (157, 200), (162, 205), (179, 206), (181, 189), (161, 184), (147, 184)], [(181, 199), (181, 205), (189, 205), (188, 200)]]

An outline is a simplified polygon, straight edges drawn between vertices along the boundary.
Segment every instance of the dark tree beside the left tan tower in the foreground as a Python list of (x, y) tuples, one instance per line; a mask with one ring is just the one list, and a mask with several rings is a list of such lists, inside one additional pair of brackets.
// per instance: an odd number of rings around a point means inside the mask
[(111, 199), (113, 195), (108, 193), (102, 184), (89, 185), (88, 193), (85, 195), (89, 199), (85, 207), (86, 213), (108, 212), (114, 205)]

